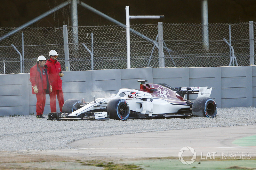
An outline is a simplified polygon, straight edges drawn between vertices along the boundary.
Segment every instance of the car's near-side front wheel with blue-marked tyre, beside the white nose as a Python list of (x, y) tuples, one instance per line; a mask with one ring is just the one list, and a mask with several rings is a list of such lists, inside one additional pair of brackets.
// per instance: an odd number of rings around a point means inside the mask
[(130, 115), (130, 108), (126, 100), (113, 99), (108, 102), (106, 111), (109, 112), (110, 119), (127, 120)]

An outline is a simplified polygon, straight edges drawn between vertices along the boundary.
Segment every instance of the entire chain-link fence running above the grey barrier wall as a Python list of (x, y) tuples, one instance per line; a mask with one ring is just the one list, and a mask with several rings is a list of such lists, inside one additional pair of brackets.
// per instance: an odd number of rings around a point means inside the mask
[[(239, 66), (250, 65), (249, 22), (238, 24), (210, 24), (209, 46), (204, 48), (202, 25), (163, 24), (165, 67), (216, 67), (228, 66), (229, 40)], [(131, 68), (159, 67), (158, 24), (131, 25), (141, 35), (130, 33)], [(1, 28), (3, 36), (15, 28)], [(48, 58), (51, 49), (59, 55), (62, 70), (65, 68), (63, 28), (26, 28), (0, 41), (0, 74), (20, 73), (24, 35), (23, 71), (29, 72), (39, 55)], [(254, 29), (255, 34), (255, 29)], [(73, 43), (72, 27), (68, 26), (69, 70), (101, 70), (127, 68), (126, 29), (122, 26), (79, 26), (78, 44)], [(147, 37), (145, 39), (145, 37)], [(151, 39), (152, 41), (148, 41)], [(85, 48), (87, 47), (90, 52)], [(254, 48), (255, 49), (255, 48)]]

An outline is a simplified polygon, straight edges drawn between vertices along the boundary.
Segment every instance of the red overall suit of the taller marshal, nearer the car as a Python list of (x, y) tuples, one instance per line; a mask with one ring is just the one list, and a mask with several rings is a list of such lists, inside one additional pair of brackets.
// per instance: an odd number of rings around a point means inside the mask
[(56, 95), (59, 101), (60, 112), (62, 112), (62, 106), (64, 104), (64, 96), (62, 92), (62, 80), (59, 73), (61, 71), (60, 62), (53, 60), (52, 58), (46, 61), (47, 70), (49, 74), (49, 80), (52, 85), (52, 92), (50, 94), (50, 107), (51, 112), (56, 112)]

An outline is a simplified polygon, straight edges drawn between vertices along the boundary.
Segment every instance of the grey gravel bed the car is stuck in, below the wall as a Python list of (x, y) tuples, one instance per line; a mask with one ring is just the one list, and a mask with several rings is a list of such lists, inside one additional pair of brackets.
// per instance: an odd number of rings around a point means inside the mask
[(35, 115), (4, 116), (0, 117), (0, 151), (72, 149), (69, 143), (91, 137), (252, 124), (256, 124), (256, 107), (218, 108), (215, 118), (49, 121)]

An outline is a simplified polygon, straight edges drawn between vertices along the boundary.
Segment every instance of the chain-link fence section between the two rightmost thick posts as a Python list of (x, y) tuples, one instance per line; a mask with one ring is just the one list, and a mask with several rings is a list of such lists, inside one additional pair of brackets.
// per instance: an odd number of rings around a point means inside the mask
[[(230, 24), (231, 45), (238, 65), (250, 65), (249, 23)], [(203, 48), (202, 25), (166, 24), (164, 41), (172, 49), (171, 57), (176, 67), (228, 66), (230, 48), (223, 39), (229, 40), (229, 24), (209, 25), (209, 49)], [(166, 67), (174, 67), (165, 62)]]

